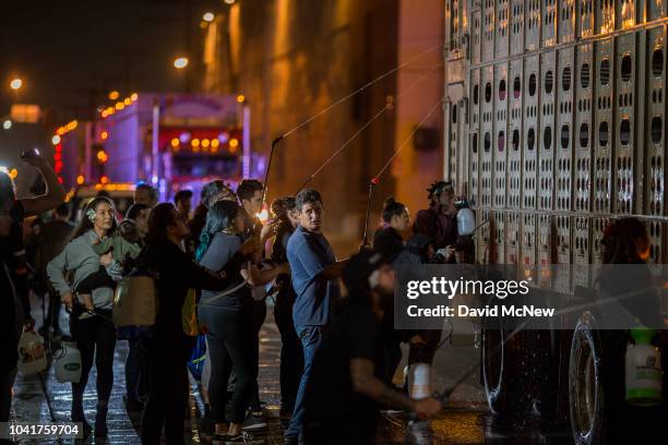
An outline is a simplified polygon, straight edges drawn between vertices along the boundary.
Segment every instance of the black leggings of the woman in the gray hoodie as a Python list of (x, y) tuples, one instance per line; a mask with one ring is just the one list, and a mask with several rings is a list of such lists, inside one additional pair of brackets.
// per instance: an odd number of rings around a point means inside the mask
[[(116, 349), (116, 329), (111, 324), (111, 311), (97, 310), (102, 316), (91, 316), (73, 320), (70, 323), (72, 336), (81, 352), (81, 381), (72, 383), (72, 398), (75, 402), (82, 400), (88, 383), (88, 373), (97, 369), (97, 399), (108, 401), (114, 386), (114, 350)], [(97, 350), (97, 353), (96, 353)]]

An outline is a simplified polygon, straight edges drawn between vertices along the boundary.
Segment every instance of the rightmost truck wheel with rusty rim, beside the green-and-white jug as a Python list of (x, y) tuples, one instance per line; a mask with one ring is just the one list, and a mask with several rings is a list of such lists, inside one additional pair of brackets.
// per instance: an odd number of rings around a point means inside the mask
[(575, 326), (569, 360), (569, 411), (577, 445), (610, 443), (623, 423), (624, 333), (597, 330), (585, 312)]

